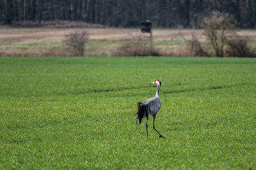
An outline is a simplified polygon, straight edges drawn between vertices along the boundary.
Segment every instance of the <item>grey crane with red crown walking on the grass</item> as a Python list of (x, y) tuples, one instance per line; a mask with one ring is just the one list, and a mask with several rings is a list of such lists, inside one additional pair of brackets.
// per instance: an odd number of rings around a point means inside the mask
[(147, 118), (146, 119), (146, 129), (147, 129), (147, 140), (148, 140), (148, 116), (151, 115), (153, 117), (153, 129), (155, 129), (155, 131), (159, 134), (159, 138), (164, 138), (164, 136), (161, 135), (155, 128), (156, 115), (157, 115), (157, 112), (161, 108), (161, 100), (159, 98), (159, 89), (161, 87), (161, 81), (155, 80), (149, 84), (157, 84), (156, 97), (151, 97), (151, 98), (143, 101), (143, 103), (138, 102), (138, 104), (137, 104), (138, 111), (135, 114), (135, 115), (138, 115), (136, 118), (136, 124), (137, 124), (138, 120), (140, 121), (140, 124), (141, 124), (142, 118), (145, 118), (145, 117)]

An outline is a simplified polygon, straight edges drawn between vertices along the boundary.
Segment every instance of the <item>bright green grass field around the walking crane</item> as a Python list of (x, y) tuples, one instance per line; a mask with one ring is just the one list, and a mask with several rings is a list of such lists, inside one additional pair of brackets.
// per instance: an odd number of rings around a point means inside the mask
[(0, 169), (255, 169), (255, 111), (255, 59), (3, 57)]

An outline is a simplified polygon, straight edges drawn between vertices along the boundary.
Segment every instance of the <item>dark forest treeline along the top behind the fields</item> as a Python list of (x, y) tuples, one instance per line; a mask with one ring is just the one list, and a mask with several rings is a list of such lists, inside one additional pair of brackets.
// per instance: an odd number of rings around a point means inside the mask
[(4, 24), (79, 20), (113, 27), (138, 27), (149, 19), (156, 27), (199, 28), (211, 11), (234, 15), (237, 26), (256, 27), (255, 0), (1, 0)]

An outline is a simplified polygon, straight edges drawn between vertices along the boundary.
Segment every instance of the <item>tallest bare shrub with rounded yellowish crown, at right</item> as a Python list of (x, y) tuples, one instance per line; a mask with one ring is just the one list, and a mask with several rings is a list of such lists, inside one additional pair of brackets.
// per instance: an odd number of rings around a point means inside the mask
[(204, 35), (214, 48), (216, 56), (224, 57), (225, 45), (228, 39), (236, 36), (236, 20), (228, 13), (212, 12), (211, 17), (202, 22)]

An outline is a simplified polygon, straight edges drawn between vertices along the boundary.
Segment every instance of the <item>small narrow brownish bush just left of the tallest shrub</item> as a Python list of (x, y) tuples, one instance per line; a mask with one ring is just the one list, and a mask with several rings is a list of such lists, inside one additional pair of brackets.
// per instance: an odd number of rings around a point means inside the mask
[(205, 52), (204, 48), (195, 34), (191, 34), (192, 38), (186, 40), (186, 46), (189, 50), (189, 56), (192, 57), (209, 57), (209, 54)]

